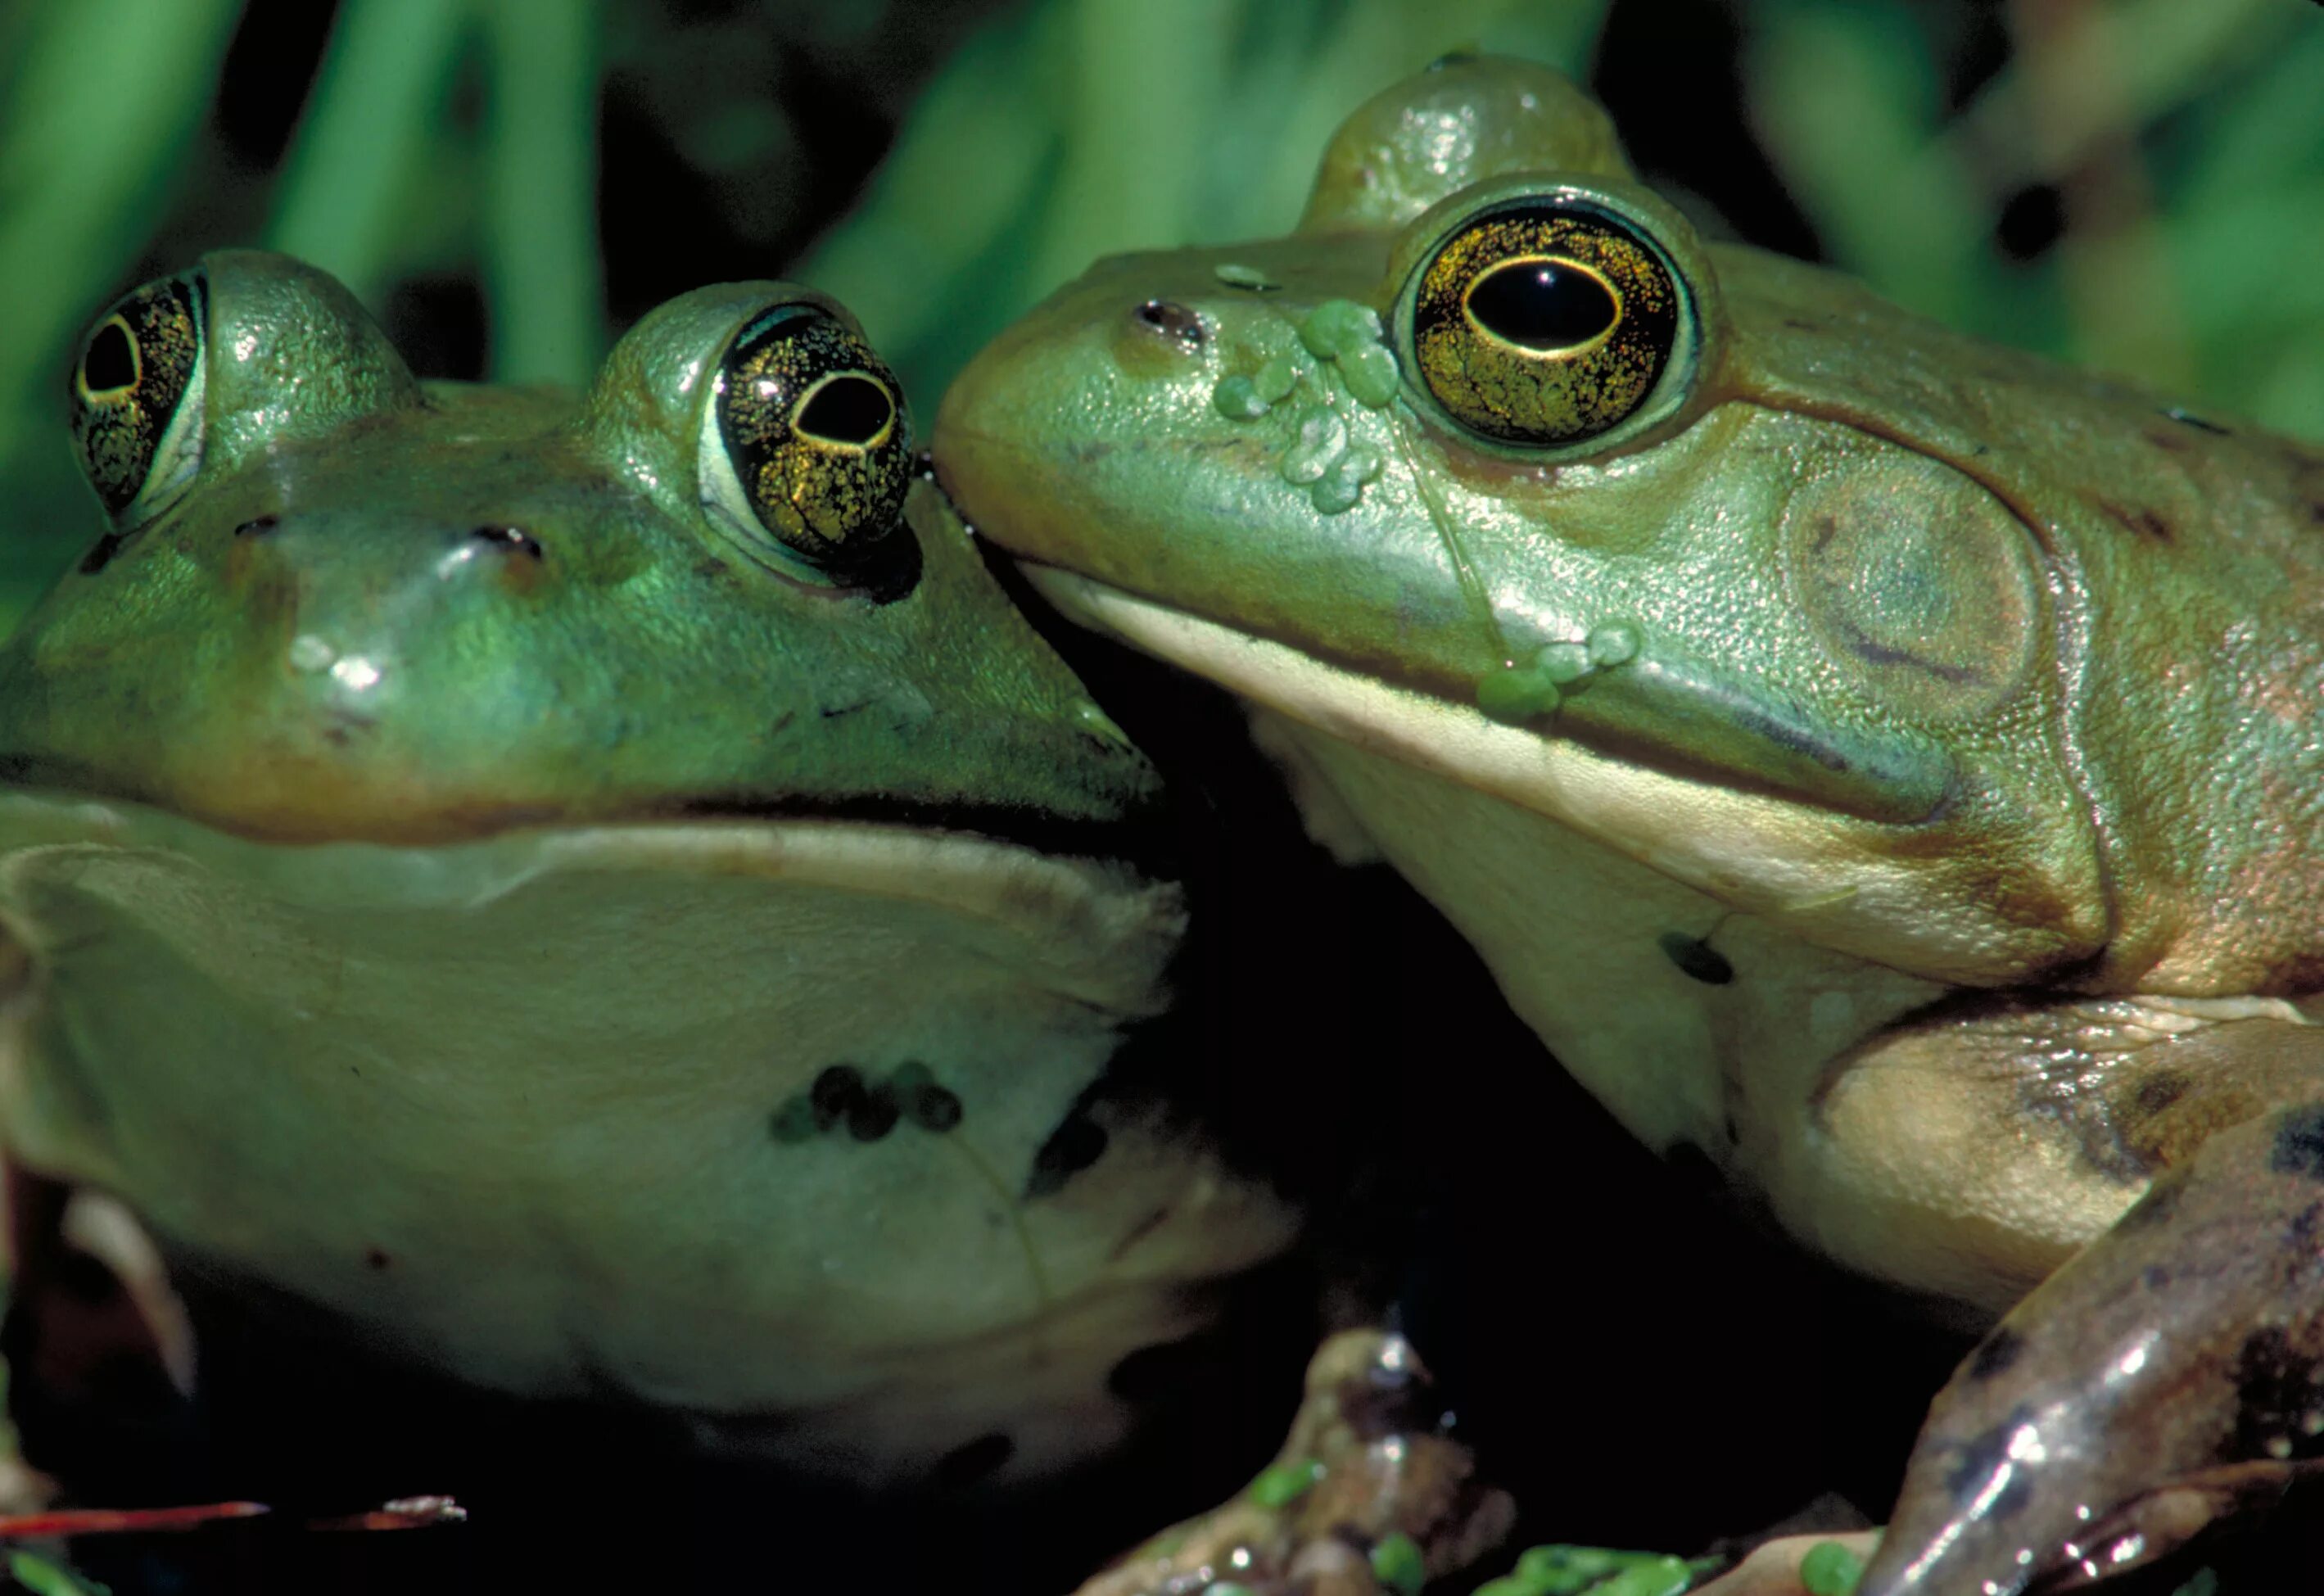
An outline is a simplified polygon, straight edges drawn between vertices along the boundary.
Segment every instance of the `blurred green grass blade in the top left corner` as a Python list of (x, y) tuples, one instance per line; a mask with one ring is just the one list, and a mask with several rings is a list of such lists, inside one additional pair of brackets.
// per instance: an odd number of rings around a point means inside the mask
[(46, 420), (65, 344), (158, 223), (239, 0), (53, 0), (0, 107), (0, 423)]

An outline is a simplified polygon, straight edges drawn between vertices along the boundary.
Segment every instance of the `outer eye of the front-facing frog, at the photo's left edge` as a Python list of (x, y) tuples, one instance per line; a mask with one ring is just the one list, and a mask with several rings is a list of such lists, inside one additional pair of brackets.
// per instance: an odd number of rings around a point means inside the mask
[(202, 279), (165, 276), (119, 300), (72, 367), (72, 444), (123, 525), (167, 509), (202, 465)]

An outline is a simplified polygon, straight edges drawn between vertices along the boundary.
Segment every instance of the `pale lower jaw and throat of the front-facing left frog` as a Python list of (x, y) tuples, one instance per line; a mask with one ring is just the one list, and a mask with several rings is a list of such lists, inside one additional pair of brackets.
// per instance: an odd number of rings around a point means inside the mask
[(0, 795), (0, 1131), (490, 1389), (611, 1382), (862, 1478), (1006, 1429), (1039, 1471), (1287, 1243), (1160, 1122), (1034, 1180), (1181, 922), (1176, 885), (897, 827), (279, 846)]

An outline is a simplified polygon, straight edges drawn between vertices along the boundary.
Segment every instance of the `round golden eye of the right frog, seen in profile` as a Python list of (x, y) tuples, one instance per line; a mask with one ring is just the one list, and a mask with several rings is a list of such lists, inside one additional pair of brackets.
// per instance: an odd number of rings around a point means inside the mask
[(1529, 195), (1457, 225), (1408, 290), (1413, 369), (1462, 427), (1555, 448), (1601, 439), (1683, 365), (1669, 256), (1585, 195)]

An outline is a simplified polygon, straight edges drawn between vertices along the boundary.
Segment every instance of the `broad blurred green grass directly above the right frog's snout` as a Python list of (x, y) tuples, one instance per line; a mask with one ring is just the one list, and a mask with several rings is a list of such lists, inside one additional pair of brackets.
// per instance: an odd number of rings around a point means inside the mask
[(1606, 0), (1050, 0), (976, 33), (867, 202), (797, 267), (862, 318), (923, 414), (1095, 258), (1264, 237), (1332, 128), (1448, 49), (1580, 70)]

